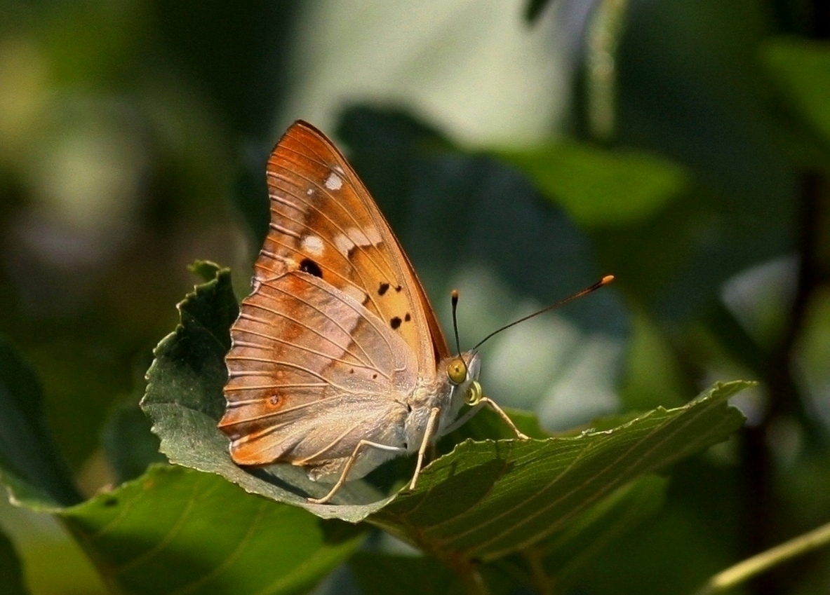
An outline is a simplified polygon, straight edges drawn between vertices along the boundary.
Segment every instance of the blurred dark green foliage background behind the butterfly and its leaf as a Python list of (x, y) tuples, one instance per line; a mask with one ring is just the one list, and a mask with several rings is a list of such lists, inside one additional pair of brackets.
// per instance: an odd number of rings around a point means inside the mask
[[(466, 341), (617, 276), (487, 346), (500, 402), (560, 429), (759, 380), (579, 587), (691, 593), (830, 519), (828, 34), (819, 0), (0, 0), (0, 331), (85, 493), (120, 480), (186, 265), (245, 293), (266, 156), (307, 119), (445, 322), (461, 289)], [(0, 527), (32, 593), (104, 590), (49, 517)], [(825, 552), (745, 591), (828, 588)]]

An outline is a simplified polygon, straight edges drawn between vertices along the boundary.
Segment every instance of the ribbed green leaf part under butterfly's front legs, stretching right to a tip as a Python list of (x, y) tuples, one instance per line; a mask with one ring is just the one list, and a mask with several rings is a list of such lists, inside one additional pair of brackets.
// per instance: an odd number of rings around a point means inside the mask
[(436, 555), (492, 560), (539, 542), (638, 476), (727, 438), (744, 421), (717, 384), (676, 409), (575, 438), (466, 440), (369, 520)]

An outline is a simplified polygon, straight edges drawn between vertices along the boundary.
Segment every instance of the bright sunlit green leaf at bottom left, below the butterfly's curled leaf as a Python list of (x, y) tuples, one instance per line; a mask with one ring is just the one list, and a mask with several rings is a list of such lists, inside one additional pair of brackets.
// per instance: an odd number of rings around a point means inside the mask
[(297, 593), (354, 552), (354, 527), (156, 465), (57, 510), (114, 593)]

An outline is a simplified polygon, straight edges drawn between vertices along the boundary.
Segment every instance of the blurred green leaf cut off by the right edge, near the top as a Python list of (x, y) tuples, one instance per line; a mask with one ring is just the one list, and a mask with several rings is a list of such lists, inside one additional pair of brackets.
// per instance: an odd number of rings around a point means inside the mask
[(761, 56), (793, 117), (821, 139), (826, 159), (830, 148), (830, 44), (777, 37), (764, 43)]

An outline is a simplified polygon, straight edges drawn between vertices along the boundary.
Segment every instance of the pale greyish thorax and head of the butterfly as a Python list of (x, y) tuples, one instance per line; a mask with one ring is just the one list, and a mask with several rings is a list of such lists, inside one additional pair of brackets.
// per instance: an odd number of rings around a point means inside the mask
[[(466, 367), (466, 378), (461, 383), (454, 383), (447, 374), (447, 366), (461, 357)], [(434, 439), (441, 438), (448, 428), (458, 417), (461, 408), (466, 404), (467, 395), (470, 394), (473, 383), (477, 383), (481, 360), (477, 353), (469, 351), (461, 356), (447, 357), (441, 360), (436, 366), (434, 380), (424, 379), (418, 383), (417, 388), (407, 399), (410, 409), (404, 425), (404, 433), (407, 437), (407, 449), (410, 452), (417, 451), (427, 429), (429, 416), (432, 408), (440, 409), (438, 428)]]

